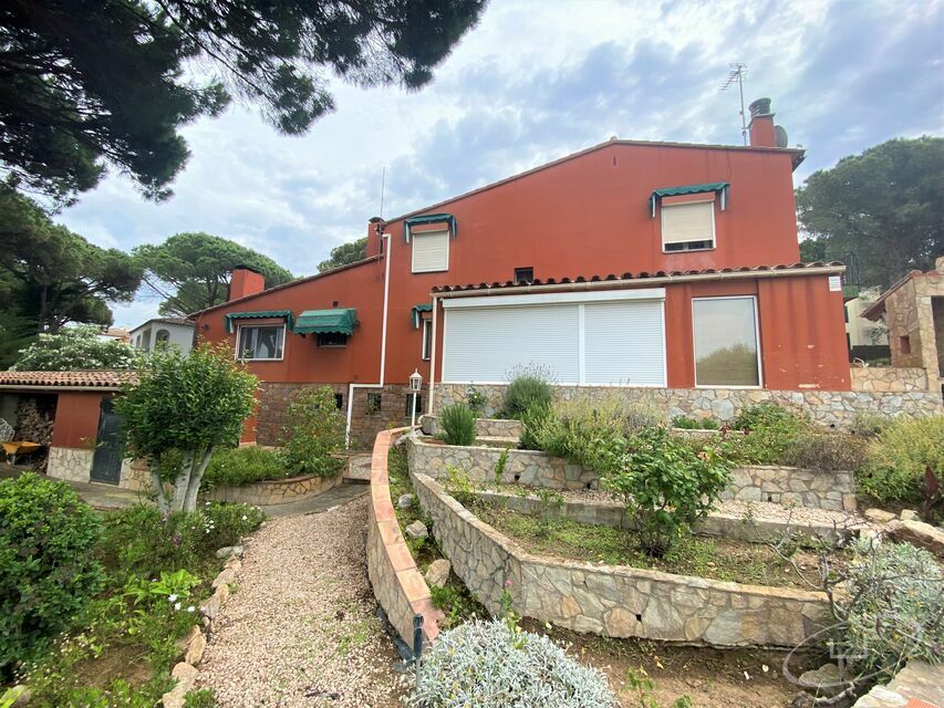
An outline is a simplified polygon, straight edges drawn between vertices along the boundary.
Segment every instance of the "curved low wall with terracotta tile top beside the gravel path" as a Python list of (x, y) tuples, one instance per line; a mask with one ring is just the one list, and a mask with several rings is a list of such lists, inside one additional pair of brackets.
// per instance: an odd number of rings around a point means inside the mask
[(433, 607), (429, 587), (403, 540), (390, 498), (387, 451), (406, 428), (384, 430), (374, 441), (371, 460), (371, 504), (367, 517), (367, 576), (390, 623), (413, 647), (413, 616), (423, 615), (427, 642), (439, 635), (443, 613)]

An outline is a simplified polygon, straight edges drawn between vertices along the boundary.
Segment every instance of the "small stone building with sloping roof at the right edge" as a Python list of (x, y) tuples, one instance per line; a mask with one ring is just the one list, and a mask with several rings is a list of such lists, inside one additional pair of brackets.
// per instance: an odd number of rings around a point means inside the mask
[(944, 393), (944, 257), (934, 270), (911, 271), (861, 316), (888, 327), (892, 366), (925, 369), (927, 389)]

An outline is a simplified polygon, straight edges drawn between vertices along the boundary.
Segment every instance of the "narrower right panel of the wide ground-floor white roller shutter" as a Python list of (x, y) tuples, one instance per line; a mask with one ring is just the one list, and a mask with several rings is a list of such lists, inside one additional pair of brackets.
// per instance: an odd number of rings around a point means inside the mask
[(585, 384), (665, 386), (661, 300), (583, 305)]

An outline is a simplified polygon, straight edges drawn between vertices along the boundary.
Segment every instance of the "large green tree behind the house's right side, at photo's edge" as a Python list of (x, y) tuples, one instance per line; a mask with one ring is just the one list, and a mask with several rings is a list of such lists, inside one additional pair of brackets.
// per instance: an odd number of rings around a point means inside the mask
[(797, 190), (805, 260), (853, 253), (861, 284), (888, 288), (944, 253), (944, 138), (895, 138), (813, 173)]

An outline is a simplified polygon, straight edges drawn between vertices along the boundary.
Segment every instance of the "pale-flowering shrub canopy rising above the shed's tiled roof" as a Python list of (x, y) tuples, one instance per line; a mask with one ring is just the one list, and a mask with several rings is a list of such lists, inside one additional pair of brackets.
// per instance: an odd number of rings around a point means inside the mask
[(79, 368), (134, 368), (138, 352), (114, 337), (100, 336), (101, 327), (84, 324), (59, 334), (40, 334), (20, 352), (11, 367), (20, 372), (68, 372)]

